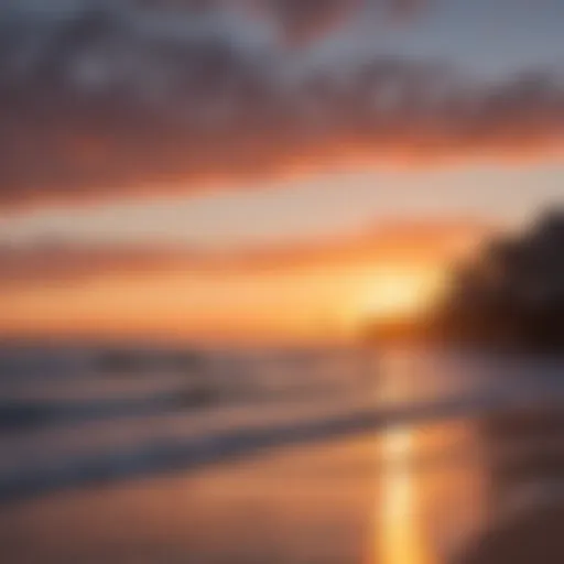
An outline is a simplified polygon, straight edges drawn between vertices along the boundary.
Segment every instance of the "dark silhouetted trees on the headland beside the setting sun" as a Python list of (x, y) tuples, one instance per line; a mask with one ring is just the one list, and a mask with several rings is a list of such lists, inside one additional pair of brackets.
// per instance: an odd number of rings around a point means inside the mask
[(564, 351), (564, 210), (545, 213), (519, 236), (494, 239), (457, 267), (447, 295), (425, 319), (376, 324), (368, 336)]

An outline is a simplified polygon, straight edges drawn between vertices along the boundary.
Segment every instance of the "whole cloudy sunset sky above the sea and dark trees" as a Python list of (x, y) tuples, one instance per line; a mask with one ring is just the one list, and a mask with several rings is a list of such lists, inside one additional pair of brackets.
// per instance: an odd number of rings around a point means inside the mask
[(303, 341), (564, 205), (564, 0), (7, 0), (0, 333)]

